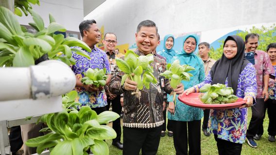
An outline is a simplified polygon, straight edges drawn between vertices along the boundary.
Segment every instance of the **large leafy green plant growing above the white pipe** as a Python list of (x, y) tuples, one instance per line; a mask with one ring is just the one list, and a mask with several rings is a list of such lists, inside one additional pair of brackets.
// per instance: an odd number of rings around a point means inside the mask
[[(33, 10), (29, 9), (34, 23), (29, 23), (36, 34), (27, 32), (21, 27), (16, 16), (7, 8), (0, 7), (0, 66), (27, 67), (35, 64), (35, 60), (48, 54), (49, 59), (61, 60), (66, 64), (75, 64), (71, 57), (72, 51), (90, 59), (86, 52), (72, 46), (82, 47), (86, 51), (91, 49), (82, 41), (68, 37), (64, 39), (62, 34), (54, 34), (55, 31), (66, 31), (56, 23), (50, 14), (50, 25), (44, 27), (44, 21)], [(62, 53), (62, 54), (60, 54)]]

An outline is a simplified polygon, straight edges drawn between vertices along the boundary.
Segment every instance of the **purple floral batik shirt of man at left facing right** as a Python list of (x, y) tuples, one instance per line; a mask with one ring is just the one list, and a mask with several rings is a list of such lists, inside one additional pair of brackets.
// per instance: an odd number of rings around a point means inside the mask
[[(81, 47), (71, 48), (84, 50)], [(106, 74), (111, 73), (109, 62), (104, 51), (98, 47), (94, 47), (91, 52), (84, 51), (90, 56), (90, 60), (75, 52), (72, 53), (72, 57), (76, 60), (76, 64), (72, 66), (72, 70), (80, 80), (84, 77), (84, 72), (86, 72), (88, 68), (106, 68)], [(84, 88), (80, 87), (76, 87), (75, 90), (78, 92), (78, 98), (76, 100), (80, 102), (82, 106), (88, 105), (91, 108), (100, 108), (107, 105), (107, 97), (104, 90), (99, 93), (87, 92)]]

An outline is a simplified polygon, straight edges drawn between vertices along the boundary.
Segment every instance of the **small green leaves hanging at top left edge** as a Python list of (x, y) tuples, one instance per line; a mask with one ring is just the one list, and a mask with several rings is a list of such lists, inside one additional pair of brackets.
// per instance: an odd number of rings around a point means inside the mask
[(23, 12), (25, 16), (28, 16), (29, 10), (33, 9), (31, 4), (40, 5), (39, 0), (15, 0), (15, 14), (17, 16), (22, 16)]

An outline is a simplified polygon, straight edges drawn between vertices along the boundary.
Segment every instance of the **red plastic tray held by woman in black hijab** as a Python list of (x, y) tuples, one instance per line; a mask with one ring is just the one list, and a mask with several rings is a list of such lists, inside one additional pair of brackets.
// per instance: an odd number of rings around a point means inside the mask
[(198, 98), (199, 94), (201, 93), (190, 93), (189, 95), (184, 94), (181, 97), (180, 95), (178, 95), (178, 99), (179, 101), (185, 103), (186, 105), (196, 107), (196, 108), (202, 108), (202, 109), (232, 109), (232, 108), (239, 108), (246, 103), (246, 101), (243, 101), (242, 98), (239, 98), (235, 103), (204, 104)]

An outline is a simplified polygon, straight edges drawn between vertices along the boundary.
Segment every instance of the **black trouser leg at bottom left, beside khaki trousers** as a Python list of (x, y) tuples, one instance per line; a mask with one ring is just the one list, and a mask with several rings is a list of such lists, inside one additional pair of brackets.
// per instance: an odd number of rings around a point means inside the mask
[(11, 127), (9, 140), (10, 140), (10, 145), (11, 145), (11, 152), (13, 153), (13, 155), (15, 155), (16, 152), (23, 145), (20, 125)]

